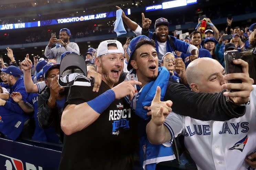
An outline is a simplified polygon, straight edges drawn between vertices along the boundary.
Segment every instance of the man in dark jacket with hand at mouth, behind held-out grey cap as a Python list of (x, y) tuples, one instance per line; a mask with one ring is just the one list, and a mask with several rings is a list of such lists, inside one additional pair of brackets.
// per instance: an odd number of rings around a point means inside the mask
[(60, 118), (66, 101), (64, 87), (58, 84), (60, 64), (48, 63), (43, 67), (45, 90), (38, 95), (38, 123), (42, 129), (48, 129), (53, 124), (55, 131), (63, 142), (63, 132)]

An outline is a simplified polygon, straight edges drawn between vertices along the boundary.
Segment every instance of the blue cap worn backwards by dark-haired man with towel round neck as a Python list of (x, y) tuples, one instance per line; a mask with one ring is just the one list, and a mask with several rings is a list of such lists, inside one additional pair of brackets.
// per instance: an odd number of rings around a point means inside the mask
[(150, 41), (150, 39), (147, 36), (140, 35), (138, 37), (133, 38), (130, 41), (130, 44), (129, 44), (128, 48), (126, 49), (126, 52), (127, 52), (128, 56), (130, 57), (130, 59), (128, 61), (128, 64), (127, 64), (127, 70), (128, 71), (130, 71), (132, 69), (132, 66), (131, 66), (131, 60), (132, 60), (131, 59), (131, 55), (136, 50), (136, 45), (139, 42), (139, 40), (141, 40), (141, 39), (146, 39), (146, 40)]

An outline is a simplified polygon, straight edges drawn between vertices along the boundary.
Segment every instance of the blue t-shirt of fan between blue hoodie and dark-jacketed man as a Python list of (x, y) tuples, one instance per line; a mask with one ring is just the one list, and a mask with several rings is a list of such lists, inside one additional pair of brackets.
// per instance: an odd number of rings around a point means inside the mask
[(38, 118), (36, 116), (38, 113), (38, 93), (30, 93), (27, 104), (34, 108), (35, 132), (32, 139), (57, 144), (60, 143), (53, 125), (48, 129), (42, 129), (39, 126)]

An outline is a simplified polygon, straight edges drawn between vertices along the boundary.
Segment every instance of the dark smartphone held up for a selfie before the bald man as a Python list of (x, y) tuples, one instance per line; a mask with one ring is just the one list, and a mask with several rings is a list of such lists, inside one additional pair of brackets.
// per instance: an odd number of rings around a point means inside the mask
[[(226, 74), (242, 73), (242, 66), (233, 63), (233, 60), (240, 59), (240, 52), (237, 50), (224, 52), (224, 62)], [(242, 83), (242, 80), (228, 80), (227, 83)], [(230, 92), (237, 92), (239, 90), (230, 89)]]

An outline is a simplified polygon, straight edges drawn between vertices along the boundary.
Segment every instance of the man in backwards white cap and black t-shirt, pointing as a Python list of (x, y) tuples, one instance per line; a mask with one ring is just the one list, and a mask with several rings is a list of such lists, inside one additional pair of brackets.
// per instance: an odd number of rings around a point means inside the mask
[(133, 169), (138, 122), (124, 97), (131, 99), (134, 85), (141, 83), (118, 84), (124, 49), (117, 40), (99, 44), (95, 65), (102, 75), (98, 92), (92, 86), (70, 87), (61, 119), (65, 142), (59, 170)]

